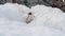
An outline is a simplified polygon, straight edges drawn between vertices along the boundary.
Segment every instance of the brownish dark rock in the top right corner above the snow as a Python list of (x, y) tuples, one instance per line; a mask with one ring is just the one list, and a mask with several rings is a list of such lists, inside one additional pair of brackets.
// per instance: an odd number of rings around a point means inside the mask
[(65, 13), (65, 2), (63, 0), (52, 0), (53, 7), (58, 7)]

